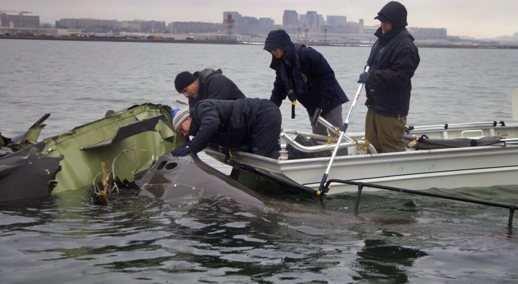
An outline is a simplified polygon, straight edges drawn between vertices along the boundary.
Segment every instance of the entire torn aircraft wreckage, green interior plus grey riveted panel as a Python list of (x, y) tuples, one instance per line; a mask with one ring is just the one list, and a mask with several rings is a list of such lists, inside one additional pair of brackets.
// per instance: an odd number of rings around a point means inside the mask
[(0, 133), (0, 201), (88, 190), (108, 203), (119, 187), (138, 187), (140, 196), (182, 206), (229, 197), (248, 208), (274, 212), (267, 198), (212, 168), (196, 155), (169, 154), (184, 143), (172, 131), (171, 108), (145, 103), (36, 142), (40, 118), (13, 138)]

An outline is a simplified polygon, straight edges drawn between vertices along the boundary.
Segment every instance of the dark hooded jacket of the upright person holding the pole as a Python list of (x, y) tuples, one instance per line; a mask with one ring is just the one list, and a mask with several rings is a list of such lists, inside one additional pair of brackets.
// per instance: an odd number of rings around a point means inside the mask
[(372, 46), (368, 66), (370, 77), (365, 89), (365, 105), (377, 113), (406, 117), (410, 107), (411, 78), (418, 68), (420, 57), (414, 38), (405, 28), (407, 12), (397, 2), (389, 2), (378, 13), (387, 17), (392, 29), (383, 34), (381, 27)]

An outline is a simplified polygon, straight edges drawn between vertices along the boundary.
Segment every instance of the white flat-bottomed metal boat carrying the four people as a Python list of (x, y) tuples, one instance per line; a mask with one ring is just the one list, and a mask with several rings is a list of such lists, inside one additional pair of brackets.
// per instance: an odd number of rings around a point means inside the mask
[[(518, 90), (515, 90), (514, 94), (518, 97)], [(322, 119), (319, 118), (320, 120)], [(364, 133), (347, 134), (346, 141), (342, 141), (340, 148), (347, 147), (348, 155), (335, 157), (328, 179), (411, 190), (518, 185), (518, 123), (489, 121), (440, 124), (409, 127), (409, 130), (410, 132), (405, 136), (411, 137), (409, 139), (418, 140), (425, 137), (422, 135), (426, 135), (429, 139), (422, 139), (417, 146), (408, 148), (405, 152), (396, 153), (375, 153), (376, 150), (372, 146), (370, 146), (371, 153), (357, 150), (356, 141), (359, 145), (366, 145), (365, 140), (362, 140)], [(281, 133), (281, 140), (306, 152), (334, 149), (336, 145), (323, 143), (319, 146), (305, 147), (293, 140), (297, 134), (327, 138), (295, 130), (284, 130)], [(480, 146), (484, 145), (482, 144), (484, 140), (487, 143), (487, 139), (491, 140), (488, 143), (490, 146)], [(428, 147), (434, 144), (435, 147)], [(445, 144), (450, 146), (444, 147)], [(281, 144), (281, 147), (285, 149), (286, 145)], [(206, 150), (206, 152), (221, 162), (233, 166), (239, 165), (280, 184), (305, 191), (319, 190), (324, 171), (331, 159), (331, 157), (318, 157), (283, 160), (281, 157), (279, 160), (274, 160), (251, 153), (235, 152), (225, 162), (223, 154), (214, 150)], [(330, 185), (327, 194), (357, 192), (356, 185), (342, 183)], [(378, 189), (365, 187), (364, 191), (378, 191)]]

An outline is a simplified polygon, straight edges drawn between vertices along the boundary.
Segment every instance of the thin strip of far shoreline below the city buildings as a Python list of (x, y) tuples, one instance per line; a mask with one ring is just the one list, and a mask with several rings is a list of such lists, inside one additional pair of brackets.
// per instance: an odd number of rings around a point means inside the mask
[[(135, 38), (68, 38), (68, 37), (37, 37), (37, 36), (0, 36), (0, 39), (25, 39), (25, 40), (62, 40), (62, 41), (98, 41), (98, 42), (153, 42), (153, 43), (196, 43), (196, 44), (247, 44), (259, 45), (262, 42), (243, 42), (235, 40), (180, 40), (180, 39), (135, 39)], [(304, 42), (300, 42), (303, 43)], [(310, 42), (310, 46), (356, 46), (368, 47), (371, 44), (361, 43), (322, 43)], [(418, 48), (453, 48), (453, 49), (517, 49), (518, 45), (454, 45), (454, 44), (415, 44)]]

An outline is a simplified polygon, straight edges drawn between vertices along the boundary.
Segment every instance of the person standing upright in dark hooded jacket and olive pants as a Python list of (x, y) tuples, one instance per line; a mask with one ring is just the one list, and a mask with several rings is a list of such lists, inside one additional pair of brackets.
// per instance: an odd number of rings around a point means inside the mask
[(410, 107), (410, 79), (418, 68), (419, 53), (405, 28), (405, 6), (391, 1), (374, 19), (381, 22), (375, 33), (378, 40), (367, 61), (370, 70), (358, 80), (365, 83), (367, 93), (365, 138), (378, 153), (401, 152), (405, 151), (402, 137)]

